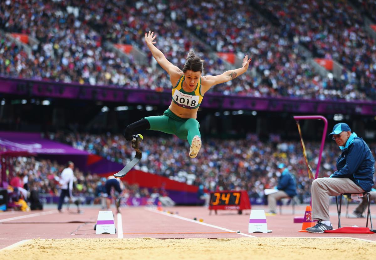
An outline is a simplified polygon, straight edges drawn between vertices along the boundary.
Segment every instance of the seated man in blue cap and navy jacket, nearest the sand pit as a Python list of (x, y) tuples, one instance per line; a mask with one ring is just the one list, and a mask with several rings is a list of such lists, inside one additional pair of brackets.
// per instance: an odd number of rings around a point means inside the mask
[(375, 160), (363, 139), (351, 133), (345, 123), (336, 124), (329, 138), (337, 143), (342, 153), (337, 159), (337, 171), (329, 178), (312, 182), (312, 218), (318, 222), (306, 229), (310, 233), (333, 229), (329, 220), (329, 196), (369, 192), (373, 186)]

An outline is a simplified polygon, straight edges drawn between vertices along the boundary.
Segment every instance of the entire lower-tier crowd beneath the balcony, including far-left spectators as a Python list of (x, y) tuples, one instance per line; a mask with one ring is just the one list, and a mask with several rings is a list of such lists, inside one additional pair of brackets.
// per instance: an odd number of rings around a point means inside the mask
[[(123, 165), (134, 157), (129, 142), (119, 135), (65, 135), (58, 132), (51, 134), (50, 138)], [(299, 200), (307, 202), (309, 199), (310, 180), (300, 142), (261, 142), (255, 135), (240, 140), (209, 138), (203, 141), (199, 156), (190, 159), (186, 141), (176, 137), (149, 137), (142, 143), (143, 158), (135, 168), (187, 184), (202, 184), (208, 190), (218, 189), (219, 186), (220, 189), (245, 189), (250, 197), (264, 198), (264, 189), (276, 186), (279, 176), (277, 165), (283, 162), (296, 179)], [(313, 168), (318, 161), (319, 147), (320, 144), (316, 142), (306, 142), (307, 158)], [(373, 153), (376, 152), (376, 144), (370, 144), (370, 148)], [(326, 144), (320, 177), (327, 177), (336, 170), (335, 160), (339, 153), (334, 142)], [(59, 176), (63, 165), (50, 160), (38, 161), (34, 157), (18, 157), (13, 165), (11, 185), (51, 196), (59, 194)], [(83, 173), (78, 168), (74, 170), (74, 176), (74, 194), (100, 196), (100, 186), (105, 184), (105, 178), (95, 172)], [(126, 196), (150, 197), (150, 193), (158, 192), (124, 184)]]

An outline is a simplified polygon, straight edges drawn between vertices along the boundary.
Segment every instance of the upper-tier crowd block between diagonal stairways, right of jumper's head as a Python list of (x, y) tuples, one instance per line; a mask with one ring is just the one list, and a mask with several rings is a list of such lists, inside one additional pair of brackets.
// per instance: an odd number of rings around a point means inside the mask
[[(243, 1), (169, 3), (177, 21), (215, 50), (238, 56), (250, 52), (252, 65), (261, 75), (262, 80), (254, 83), (261, 95), (351, 99), (346, 90), (337, 93), (340, 86), (336, 82), (314, 74), (296, 42)], [(252, 89), (244, 92), (255, 95)]]

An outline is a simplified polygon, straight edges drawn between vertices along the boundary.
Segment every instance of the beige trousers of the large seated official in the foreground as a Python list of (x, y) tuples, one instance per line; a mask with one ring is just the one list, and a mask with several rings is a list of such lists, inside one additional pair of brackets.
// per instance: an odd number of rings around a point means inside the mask
[(312, 182), (312, 218), (329, 220), (329, 196), (364, 190), (349, 178), (317, 178)]

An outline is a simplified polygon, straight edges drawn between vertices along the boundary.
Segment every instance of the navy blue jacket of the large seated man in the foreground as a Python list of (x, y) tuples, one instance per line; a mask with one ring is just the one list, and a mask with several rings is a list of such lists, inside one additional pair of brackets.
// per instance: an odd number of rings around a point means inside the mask
[(332, 178), (349, 178), (364, 191), (373, 186), (375, 160), (368, 145), (362, 138), (354, 138), (354, 142), (342, 150), (337, 159), (337, 171)]

